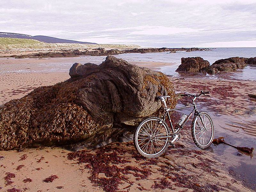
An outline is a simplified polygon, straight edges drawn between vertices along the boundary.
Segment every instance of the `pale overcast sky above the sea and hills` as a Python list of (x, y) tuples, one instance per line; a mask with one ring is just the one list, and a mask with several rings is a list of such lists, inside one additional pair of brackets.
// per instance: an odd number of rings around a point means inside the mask
[(0, 32), (151, 47), (256, 47), (256, 0), (1, 0)]

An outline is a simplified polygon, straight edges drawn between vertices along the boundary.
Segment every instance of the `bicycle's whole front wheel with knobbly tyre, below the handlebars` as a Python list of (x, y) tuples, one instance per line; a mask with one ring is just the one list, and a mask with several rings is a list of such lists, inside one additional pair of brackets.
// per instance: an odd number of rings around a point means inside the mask
[(200, 112), (202, 118), (196, 115), (192, 122), (192, 137), (197, 147), (206, 149), (212, 144), (214, 136), (214, 126), (210, 115)]

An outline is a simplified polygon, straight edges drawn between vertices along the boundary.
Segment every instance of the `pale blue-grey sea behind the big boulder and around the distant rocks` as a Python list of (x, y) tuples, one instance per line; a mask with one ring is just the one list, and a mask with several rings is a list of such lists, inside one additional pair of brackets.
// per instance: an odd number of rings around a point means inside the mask
[[(86, 62), (92, 62), (100, 64), (106, 58), (106, 56), (81, 56), (84, 57)], [(173, 77), (182, 77), (184, 74), (175, 72), (175, 70), (181, 64), (182, 57), (202, 57), (204, 60), (208, 60), (210, 64), (216, 60), (225, 59), (229, 57), (256, 57), (256, 47), (254, 48), (212, 48), (209, 51), (179, 51), (175, 53), (160, 52), (160, 53), (124, 53), (116, 55), (115, 57), (124, 60), (135, 62), (166, 62), (174, 63), (174, 65), (159, 67), (156, 70), (161, 71), (165, 75)], [(225, 73), (225, 75), (200, 75), (202, 78), (214, 78), (214, 79), (239, 79), (239, 80), (256, 80), (256, 67), (246, 66), (244, 69), (238, 69), (236, 72)]]

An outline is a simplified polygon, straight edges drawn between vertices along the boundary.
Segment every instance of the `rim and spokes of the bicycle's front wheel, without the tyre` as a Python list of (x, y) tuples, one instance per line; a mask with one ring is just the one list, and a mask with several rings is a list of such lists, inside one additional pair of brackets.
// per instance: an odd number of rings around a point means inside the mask
[(201, 146), (207, 146), (212, 140), (213, 124), (211, 119), (207, 115), (201, 114), (201, 116), (204, 125), (202, 124), (200, 117), (198, 116), (195, 122), (194, 134), (196, 141)]

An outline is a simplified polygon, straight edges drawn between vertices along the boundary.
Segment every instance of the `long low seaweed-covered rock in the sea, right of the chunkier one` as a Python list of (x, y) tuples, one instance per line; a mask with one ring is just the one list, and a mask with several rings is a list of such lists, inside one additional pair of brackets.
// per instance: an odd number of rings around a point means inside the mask
[(220, 59), (215, 61), (209, 68), (206, 69), (207, 73), (213, 74), (217, 72), (232, 72), (237, 69), (243, 69), (246, 66), (243, 57), (230, 57), (227, 59)]

